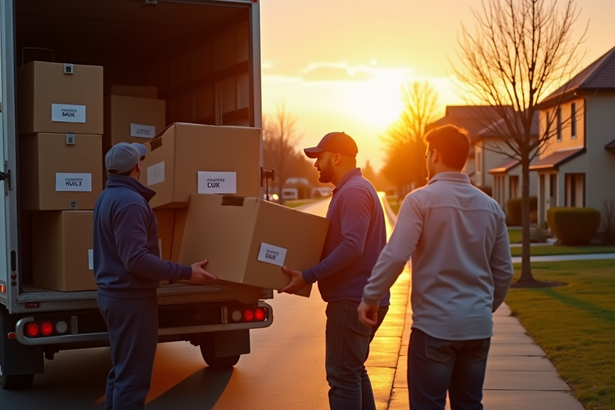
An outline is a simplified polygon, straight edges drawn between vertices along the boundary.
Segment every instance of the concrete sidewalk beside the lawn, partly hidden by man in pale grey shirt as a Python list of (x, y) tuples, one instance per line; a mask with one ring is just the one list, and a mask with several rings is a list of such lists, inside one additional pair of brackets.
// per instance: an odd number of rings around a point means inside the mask
[[(386, 200), (383, 205), (389, 224), (394, 226), (397, 216), (391, 211)], [(592, 254), (534, 256), (531, 260), (550, 262), (614, 258), (615, 254)], [(515, 258), (513, 261), (515, 262)], [(407, 360), (412, 325), (410, 279), (410, 269), (406, 269), (392, 287), (391, 310), (376, 333), (367, 362), (368, 366), (379, 365), (387, 369), (395, 359), (397, 362), (387, 407), (383, 406), (386, 395), (377, 391), (374, 386), (378, 409), (409, 408)], [(401, 317), (404, 318), (403, 324), (400, 323)], [(517, 318), (510, 316), (510, 309), (506, 304), (494, 313), (493, 322), (494, 336), (491, 339), (483, 386), (483, 406), (486, 410), (583, 410), (583, 406), (574, 398), (569, 386), (560, 379), (546, 354), (527, 336), (525, 328)], [(396, 348), (397, 354), (394, 354), (393, 350)], [(371, 374), (371, 369), (368, 371)], [(379, 371), (383, 370), (379, 368)], [(388, 384), (388, 380), (381, 382)], [(450, 409), (448, 403), (446, 409)]]

